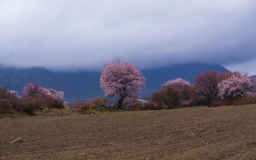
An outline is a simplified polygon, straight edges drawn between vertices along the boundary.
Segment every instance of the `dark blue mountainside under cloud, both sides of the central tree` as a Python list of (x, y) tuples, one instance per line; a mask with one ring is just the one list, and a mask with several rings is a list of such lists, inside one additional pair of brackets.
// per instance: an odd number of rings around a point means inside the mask
[[(142, 70), (146, 77), (146, 88), (142, 95), (150, 95), (161, 84), (176, 77), (184, 78), (193, 83), (194, 78), (206, 70), (227, 71), (219, 64), (179, 64), (168, 67)], [(45, 87), (65, 92), (66, 99), (88, 99), (103, 96), (99, 87), (101, 72), (52, 72), (45, 68), (3, 68), (0, 67), (0, 85), (17, 90), (21, 93), (23, 86), (35, 82)]]

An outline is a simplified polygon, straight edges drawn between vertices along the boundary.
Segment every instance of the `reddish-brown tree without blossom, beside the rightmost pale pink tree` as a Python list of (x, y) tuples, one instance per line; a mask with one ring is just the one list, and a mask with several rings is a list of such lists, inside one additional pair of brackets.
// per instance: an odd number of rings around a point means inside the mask
[(207, 99), (208, 107), (211, 106), (211, 101), (216, 99), (218, 95), (218, 83), (228, 77), (229, 72), (219, 73), (216, 71), (206, 71), (195, 78), (195, 92)]

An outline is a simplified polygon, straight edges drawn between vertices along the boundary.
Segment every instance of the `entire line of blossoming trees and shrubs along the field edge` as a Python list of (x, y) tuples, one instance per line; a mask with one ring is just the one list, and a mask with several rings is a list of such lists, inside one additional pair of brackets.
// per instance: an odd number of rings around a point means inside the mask
[[(133, 64), (117, 59), (105, 65), (103, 73), (101, 87), (106, 96), (117, 97), (116, 102), (107, 103), (107, 99), (96, 97), (79, 102), (73, 108), (82, 111), (155, 110), (256, 103), (255, 79), (238, 71), (207, 71), (198, 75), (193, 84), (181, 78), (168, 80), (147, 103), (135, 100), (145, 86), (145, 78)], [(17, 91), (0, 86), (0, 113), (18, 111), (32, 114), (35, 109), (65, 106), (64, 92), (53, 88), (27, 83), (19, 96)]]

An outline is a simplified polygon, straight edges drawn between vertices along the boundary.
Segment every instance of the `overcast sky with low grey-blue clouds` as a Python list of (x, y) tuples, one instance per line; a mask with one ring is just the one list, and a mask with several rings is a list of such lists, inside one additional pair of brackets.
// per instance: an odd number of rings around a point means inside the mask
[(256, 0), (0, 0), (0, 64), (219, 63), (256, 75)]

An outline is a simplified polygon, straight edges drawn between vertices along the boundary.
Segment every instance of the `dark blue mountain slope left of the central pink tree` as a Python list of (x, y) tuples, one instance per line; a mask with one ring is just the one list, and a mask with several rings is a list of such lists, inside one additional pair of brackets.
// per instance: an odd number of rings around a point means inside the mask
[(35, 82), (44, 87), (64, 91), (66, 99), (103, 96), (99, 87), (100, 72), (53, 72), (45, 68), (0, 68), (0, 85), (18, 91), (26, 83)]

